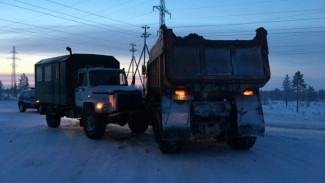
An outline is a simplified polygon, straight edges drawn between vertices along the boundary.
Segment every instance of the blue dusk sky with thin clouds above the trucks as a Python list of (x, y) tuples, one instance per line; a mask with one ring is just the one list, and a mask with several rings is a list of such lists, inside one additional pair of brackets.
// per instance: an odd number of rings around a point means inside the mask
[[(272, 79), (265, 89), (281, 88), (286, 74), (298, 70), (307, 84), (325, 88), (324, 0), (165, 0), (166, 25), (178, 36), (198, 33), (206, 39), (252, 39), (268, 31)], [(74, 53), (115, 56), (128, 68), (130, 44), (138, 60), (142, 26), (148, 25), (149, 50), (157, 40), (159, 0), (0, 0), (0, 80), (10, 85), (13, 46), (17, 80), (33, 81), (34, 64), (43, 58)]]

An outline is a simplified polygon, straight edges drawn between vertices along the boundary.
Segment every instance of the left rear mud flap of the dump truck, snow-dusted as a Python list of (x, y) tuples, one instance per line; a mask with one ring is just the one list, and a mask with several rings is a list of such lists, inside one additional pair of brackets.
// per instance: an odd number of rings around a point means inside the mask
[(162, 134), (169, 141), (185, 141), (191, 136), (190, 101), (162, 97)]

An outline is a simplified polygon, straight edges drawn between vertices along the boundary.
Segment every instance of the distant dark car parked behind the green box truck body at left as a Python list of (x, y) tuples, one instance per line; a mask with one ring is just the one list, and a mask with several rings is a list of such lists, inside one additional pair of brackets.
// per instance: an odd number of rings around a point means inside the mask
[(19, 94), (18, 109), (25, 112), (27, 108), (37, 109), (39, 111), (39, 103), (35, 99), (35, 88), (23, 90)]

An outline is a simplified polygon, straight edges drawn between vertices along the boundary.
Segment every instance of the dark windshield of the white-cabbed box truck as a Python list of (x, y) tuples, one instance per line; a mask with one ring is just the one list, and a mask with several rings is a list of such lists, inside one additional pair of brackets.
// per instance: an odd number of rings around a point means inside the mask
[(96, 70), (89, 72), (90, 86), (127, 85), (124, 72), (120, 70)]

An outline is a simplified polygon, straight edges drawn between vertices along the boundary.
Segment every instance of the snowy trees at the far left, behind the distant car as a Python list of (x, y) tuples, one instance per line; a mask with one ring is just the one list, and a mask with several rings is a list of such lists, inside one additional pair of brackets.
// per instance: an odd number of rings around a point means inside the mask
[(22, 90), (26, 90), (28, 88), (29, 81), (25, 73), (20, 76), (18, 86), (14, 84), (14, 86), (11, 86), (10, 88), (4, 88), (3, 83), (0, 80), (0, 100), (16, 99)]

